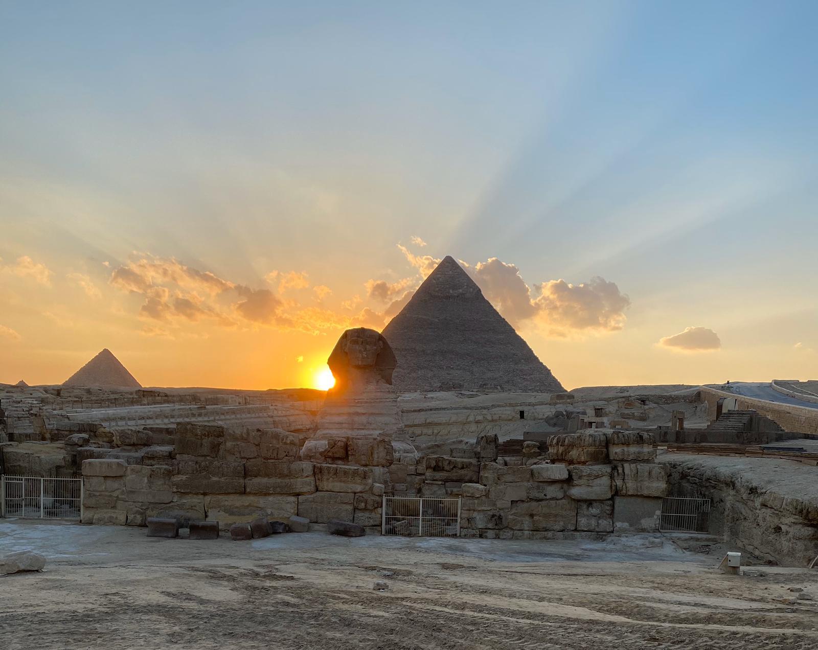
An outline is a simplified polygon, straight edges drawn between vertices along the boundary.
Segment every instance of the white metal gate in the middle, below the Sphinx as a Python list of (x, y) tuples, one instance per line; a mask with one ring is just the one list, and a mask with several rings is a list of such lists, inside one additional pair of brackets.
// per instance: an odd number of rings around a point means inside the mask
[(385, 496), (383, 535), (459, 537), (460, 499)]

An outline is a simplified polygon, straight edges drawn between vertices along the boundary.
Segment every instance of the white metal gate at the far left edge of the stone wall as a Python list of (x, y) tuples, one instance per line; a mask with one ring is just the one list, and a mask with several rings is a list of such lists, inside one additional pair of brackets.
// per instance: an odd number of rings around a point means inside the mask
[(2, 476), (0, 508), (3, 517), (80, 519), (83, 479)]

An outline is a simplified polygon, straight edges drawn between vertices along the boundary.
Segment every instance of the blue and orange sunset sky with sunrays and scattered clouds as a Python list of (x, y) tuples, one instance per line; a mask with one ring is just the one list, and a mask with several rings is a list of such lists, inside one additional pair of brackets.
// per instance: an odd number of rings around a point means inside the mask
[(0, 382), (316, 386), (445, 255), (566, 388), (818, 379), (816, 20), (0, 0)]

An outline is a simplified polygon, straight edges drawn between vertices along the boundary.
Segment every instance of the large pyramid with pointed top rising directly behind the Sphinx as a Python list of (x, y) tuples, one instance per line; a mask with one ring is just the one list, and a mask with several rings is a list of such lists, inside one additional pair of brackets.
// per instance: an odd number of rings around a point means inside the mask
[(564, 392), (454, 258), (447, 256), (383, 331), (398, 392)]

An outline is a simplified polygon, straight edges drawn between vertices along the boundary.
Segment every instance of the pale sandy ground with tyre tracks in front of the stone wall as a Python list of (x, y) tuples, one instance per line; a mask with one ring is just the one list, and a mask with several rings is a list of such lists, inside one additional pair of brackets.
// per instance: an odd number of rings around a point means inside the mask
[(49, 557), (0, 577), (0, 648), (818, 648), (818, 601), (789, 590), (818, 598), (818, 573), (725, 576), (661, 536), (145, 533), (0, 523), (0, 553)]

